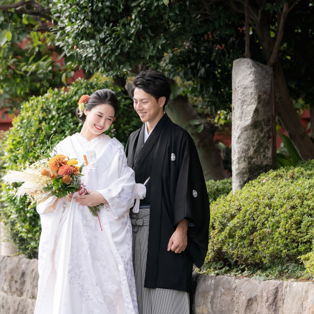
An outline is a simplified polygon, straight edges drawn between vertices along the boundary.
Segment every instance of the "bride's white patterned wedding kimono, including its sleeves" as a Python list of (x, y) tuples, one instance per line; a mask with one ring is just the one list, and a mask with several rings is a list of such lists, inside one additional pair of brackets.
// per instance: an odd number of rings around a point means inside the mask
[[(42, 233), (35, 314), (137, 314), (132, 266), (134, 172), (122, 144), (102, 134), (91, 141), (79, 133), (56, 146), (57, 154), (87, 157), (82, 182), (109, 206), (94, 217), (86, 206), (52, 196), (37, 205)], [(53, 205), (54, 204), (54, 205)]]

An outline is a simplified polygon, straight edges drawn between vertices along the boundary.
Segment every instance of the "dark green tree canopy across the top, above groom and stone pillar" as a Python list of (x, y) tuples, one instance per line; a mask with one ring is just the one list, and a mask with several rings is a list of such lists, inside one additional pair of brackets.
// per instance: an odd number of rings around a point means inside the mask
[[(208, 118), (213, 109), (230, 110), (233, 61), (245, 51), (244, 1), (231, 2), (53, 0), (51, 7), (57, 43), (68, 62), (113, 76), (137, 72), (138, 65), (156, 68), (168, 78), (179, 76), (192, 82), (189, 95), (202, 96), (198, 112)], [(253, 17), (268, 21), (257, 32), (251, 19), (255, 61), (266, 64), (273, 51), (284, 2), (249, 3)], [(291, 9), (278, 52), (291, 98), (302, 97), (307, 104), (314, 98), (312, 2), (299, 1)]]

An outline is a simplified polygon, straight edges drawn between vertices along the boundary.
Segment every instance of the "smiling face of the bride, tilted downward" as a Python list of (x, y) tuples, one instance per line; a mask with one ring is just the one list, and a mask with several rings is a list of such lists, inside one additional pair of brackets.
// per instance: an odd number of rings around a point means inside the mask
[(108, 130), (115, 120), (114, 108), (108, 104), (98, 105), (89, 111), (84, 110), (84, 113), (86, 115), (84, 128), (92, 137)]

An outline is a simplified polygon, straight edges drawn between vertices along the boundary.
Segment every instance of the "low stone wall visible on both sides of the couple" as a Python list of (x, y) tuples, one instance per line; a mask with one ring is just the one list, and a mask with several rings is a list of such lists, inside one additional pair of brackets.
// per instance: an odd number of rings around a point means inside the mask
[[(0, 313), (33, 314), (38, 261), (0, 257)], [(314, 283), (193, 276), (192, 314), (314, 314)]]

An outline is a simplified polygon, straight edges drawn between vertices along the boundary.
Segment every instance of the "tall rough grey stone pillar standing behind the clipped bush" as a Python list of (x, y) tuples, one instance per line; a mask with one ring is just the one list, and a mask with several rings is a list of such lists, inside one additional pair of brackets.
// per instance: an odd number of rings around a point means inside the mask
[(275, 166), (275, 111), (272, 69), (249, 58), (232, 71), (232, 189)]

